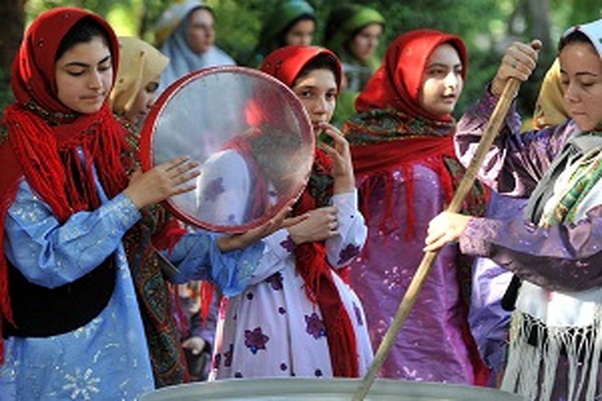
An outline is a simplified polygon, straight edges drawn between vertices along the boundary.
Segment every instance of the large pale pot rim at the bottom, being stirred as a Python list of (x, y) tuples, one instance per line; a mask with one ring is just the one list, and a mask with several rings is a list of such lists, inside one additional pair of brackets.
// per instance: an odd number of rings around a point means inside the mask
[[(141, 401), (350, 400), (360, 379), (231, 379), (161, 388)], [(377, 379), (366, 401), (521, 401), (516, 394), (484, 387), (458, 384)]]

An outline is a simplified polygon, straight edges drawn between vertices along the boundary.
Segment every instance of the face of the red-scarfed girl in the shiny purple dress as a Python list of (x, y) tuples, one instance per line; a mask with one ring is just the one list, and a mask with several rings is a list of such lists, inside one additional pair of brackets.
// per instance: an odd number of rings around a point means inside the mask
[(448, 43), (436, 47), (426, 62), (418, 92), (421, 108), (435, 116), (450, 114), (462, 93), (462, 61)]

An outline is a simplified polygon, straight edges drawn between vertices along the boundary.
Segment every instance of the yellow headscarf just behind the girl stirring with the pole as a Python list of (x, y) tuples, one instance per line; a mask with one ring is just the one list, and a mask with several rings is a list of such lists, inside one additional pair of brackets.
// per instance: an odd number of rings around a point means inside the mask
[(562, 86), (560, 85), (560, 63), (558, 59), (545, 74), (544, 82), (541, 84), (535, 112), (533, 113), (533, 127), (544, 129), (563, 123), (569, 118), (563, 98)]

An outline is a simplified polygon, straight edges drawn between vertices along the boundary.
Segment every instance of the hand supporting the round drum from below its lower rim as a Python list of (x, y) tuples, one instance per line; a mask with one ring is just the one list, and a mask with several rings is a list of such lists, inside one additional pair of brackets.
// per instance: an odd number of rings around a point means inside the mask
[(272, 234), (274, 231), (280, 230), (281, 228), (290, 227), (291, 225), (295, 225), (309, 217), (308, 213), (304, 215), (295, 216), (291, 218), (287, 218), (293, 209), (293, 205), (296, 200), (291, 200), (287, 206), (283, 207), (280, 212), (276, 216), (274, 216), (269, 221), (260, 225), (257, 228), (253, 228), (252, 230), (247, 231), (243, 234), (234, 234), (225, 237), (217, 238), (217, 246), (220, 248), (222, 252), (234, 251), (235, 249), (244, 249), (247, 246), (251, 245), (254, 242), (262, 239), (263, 237), (267, 237)]

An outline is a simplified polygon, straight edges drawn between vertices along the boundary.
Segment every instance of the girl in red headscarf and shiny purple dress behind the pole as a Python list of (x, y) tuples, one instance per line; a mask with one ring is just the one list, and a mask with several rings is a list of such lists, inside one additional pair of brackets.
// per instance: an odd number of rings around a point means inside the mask
[[(368, 221), (367, 250), (352, 264), (352, 287), (367, 307), (377, 346), (423, 256), (427, 224), (451, 200), (463, 168), (450, 114), (462, 93), (461, 38), (423, 29), (397, 37), (343, 126)], [(464, 204), (485, 209), (478, 186)], [(467, 324), (471, 264), (442, 249), (381, 371), (386, 378), (464, 384), (484, 381)]]

